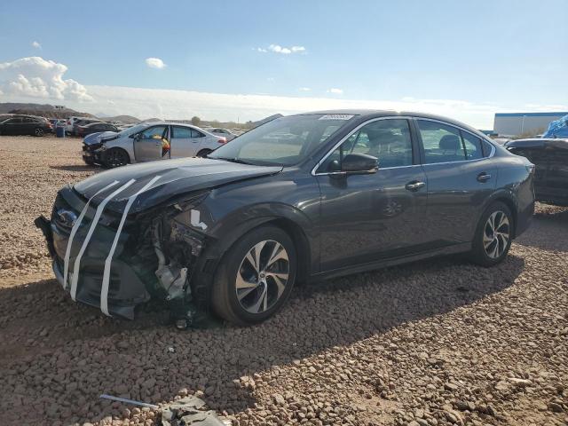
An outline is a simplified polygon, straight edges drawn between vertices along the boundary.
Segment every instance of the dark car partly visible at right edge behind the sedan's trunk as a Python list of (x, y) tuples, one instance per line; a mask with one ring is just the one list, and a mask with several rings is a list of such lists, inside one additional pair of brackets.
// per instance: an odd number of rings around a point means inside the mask
[(517, 139), (510, 140), (505, 147), (536, 166), (536, 201), (568, 206), (568, 139)]

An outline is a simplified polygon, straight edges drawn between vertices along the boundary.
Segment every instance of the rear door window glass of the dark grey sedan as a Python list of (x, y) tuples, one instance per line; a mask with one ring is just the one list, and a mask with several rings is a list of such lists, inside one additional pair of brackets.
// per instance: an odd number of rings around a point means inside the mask
[(461, 144), (460, 130), (440, 122), (425, 120), (416, 120), (416, 122), (420, 129), (427, 164), (462, 162), (466, 159)]

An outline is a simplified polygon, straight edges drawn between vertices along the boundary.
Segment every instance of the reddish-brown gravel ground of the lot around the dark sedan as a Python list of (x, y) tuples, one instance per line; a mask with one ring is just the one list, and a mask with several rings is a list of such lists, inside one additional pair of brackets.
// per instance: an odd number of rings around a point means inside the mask
[(296, 288), (262, 326), (179, 332), (73, 303), (33, 219), (97, 170), (78, 139), (0, 138), (0, 424), (156, 424), (197, 392), (234, 424), (568, 424), (568, 209), (500, 266), (428, 260)]

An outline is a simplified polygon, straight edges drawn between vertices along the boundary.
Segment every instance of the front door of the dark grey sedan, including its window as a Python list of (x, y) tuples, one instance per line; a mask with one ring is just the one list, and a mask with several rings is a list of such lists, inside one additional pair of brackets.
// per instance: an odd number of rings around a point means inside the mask
[[(353, 153), (375, 156), (379, 169), (334, 173), (344, 155)], [(322, 272), (422, 249), (428, 188), (418, 162), (409, 122), (398, 118), (367, 123), (322, 162), (316, 170)]]

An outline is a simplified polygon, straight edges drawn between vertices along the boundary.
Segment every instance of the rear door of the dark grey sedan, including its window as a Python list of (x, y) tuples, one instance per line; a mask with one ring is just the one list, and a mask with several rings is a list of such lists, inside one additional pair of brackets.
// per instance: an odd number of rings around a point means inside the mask
[(497, 168), (477, 135), (437, 120), (416, 119), (428, 179), (425, 226), (432, 246), (471, 241), (497, 183)]

